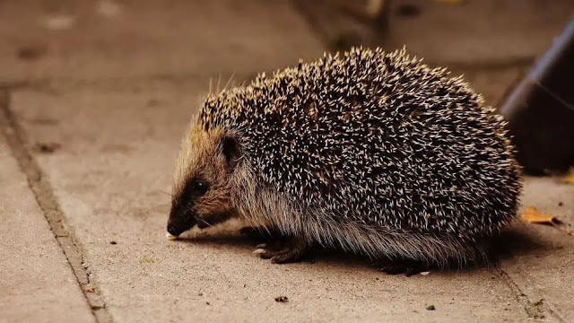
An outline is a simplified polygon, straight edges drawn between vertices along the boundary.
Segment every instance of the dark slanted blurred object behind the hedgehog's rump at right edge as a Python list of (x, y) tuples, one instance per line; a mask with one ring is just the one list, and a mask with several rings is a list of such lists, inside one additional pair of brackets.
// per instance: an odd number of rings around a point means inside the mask
[(574, 165), (574, 20), (500, 107), (526, 172)]

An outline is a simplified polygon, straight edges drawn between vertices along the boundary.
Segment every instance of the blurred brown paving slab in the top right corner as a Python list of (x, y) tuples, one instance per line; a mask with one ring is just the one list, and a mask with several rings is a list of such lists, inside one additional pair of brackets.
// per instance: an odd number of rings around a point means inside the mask
[[(398, 7), (416, 4), (415, 17)], [(574, 13), (574, 2), (481, 0), (449, 4), (396, 0), (387, 46), (407, 44), (429, 61), (444, 65), (491, 65), (524, 61), (544, 53)]]

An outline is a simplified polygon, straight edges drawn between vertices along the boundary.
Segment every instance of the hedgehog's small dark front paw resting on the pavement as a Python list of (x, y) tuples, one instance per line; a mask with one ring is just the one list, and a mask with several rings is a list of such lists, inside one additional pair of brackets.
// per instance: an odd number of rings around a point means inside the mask
[(299, 260), (309, 248), (309, 242), (304, 238), (291, 237), (274, 244), (260, 244), (253, 251), (264, 259), (271, 259), (274, 264), (284, 264)]

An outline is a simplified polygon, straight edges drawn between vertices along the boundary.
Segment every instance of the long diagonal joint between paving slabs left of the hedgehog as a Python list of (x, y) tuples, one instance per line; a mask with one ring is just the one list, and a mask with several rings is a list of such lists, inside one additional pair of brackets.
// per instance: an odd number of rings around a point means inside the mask
[(74, 233), (67, 229), (64, 214), (57, 203), (48, 178), (24, 145), (26, 143), (25, 134), (10, 110), (9, 92), (2, 89), (0, 89), (0, 127), (4, 131), (4, 136), (15, 159), (28, 179), (28, 185), (34, 193), (58, 245), (64, 252), (88, 305), (90, 305), (91, 313), (98, 323), (112, 322), (106, 304), (90, 280), (88, 267), (84, 266), (83, 252), (75, 243)]

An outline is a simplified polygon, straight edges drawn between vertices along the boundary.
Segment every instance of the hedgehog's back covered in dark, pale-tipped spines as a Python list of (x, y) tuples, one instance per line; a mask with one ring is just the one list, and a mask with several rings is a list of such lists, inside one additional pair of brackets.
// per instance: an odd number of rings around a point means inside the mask
[(237, 131), (260, 182), (302, 211), (469, 240), (516, 213), (502, 118), (404, 49), (353, 48), (259, 75), (208, 97), (199, 122)]

